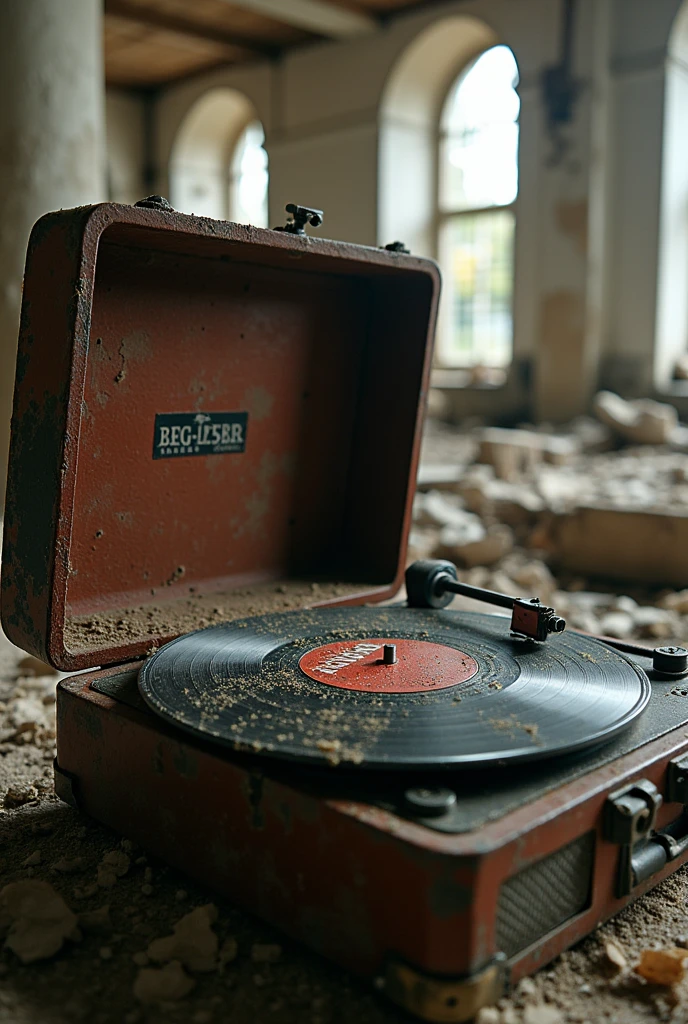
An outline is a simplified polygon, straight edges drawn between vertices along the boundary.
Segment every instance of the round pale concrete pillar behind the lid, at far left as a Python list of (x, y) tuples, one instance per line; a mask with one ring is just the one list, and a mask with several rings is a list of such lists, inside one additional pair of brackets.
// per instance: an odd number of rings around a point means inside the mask
[(0, 3), (0, 497), (29, 232), (48, 210), (105, 198), (101, 8)]

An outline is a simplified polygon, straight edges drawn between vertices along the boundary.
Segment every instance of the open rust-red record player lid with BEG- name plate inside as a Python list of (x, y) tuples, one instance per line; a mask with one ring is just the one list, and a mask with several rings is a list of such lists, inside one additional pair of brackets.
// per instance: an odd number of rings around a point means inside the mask
[(11, 425), (10, 639), (74, 670), (141, 657), (238, 589), (305, 581), (295, 606), (391, 596), (438, 292), (435, 264), (400, 252), (162, 208), (41, 218)]

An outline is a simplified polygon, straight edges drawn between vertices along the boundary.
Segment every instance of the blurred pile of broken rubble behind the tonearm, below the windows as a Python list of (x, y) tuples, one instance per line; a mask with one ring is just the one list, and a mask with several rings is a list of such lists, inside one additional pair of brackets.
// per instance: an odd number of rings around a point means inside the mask
[[(683, 580), (688, 585), (688, 572), (682, 575), (685, 546), (677, 541), (669, 571), (659, 555), (651, 564), (646, 538), (648, 528), (652, 537), (653, 520), (643, 518), (656, 514), (661, 523), (688, 527), (688, 430), (666, 409), (602, 392), (599, 419), (582, 418), (566, 432), (431, 426), (410, 560), (446, 558), (464, 582), (540, 597), (574, 629), (621, 639), (685, 639), (688, 590), (677, 587)], [(639, 443), (643, 439), (651, 443)], [(566, 530), (570, 535), (582, 509), (590, 528), (577, 565)], [(597, 520), (590, 518), (614, 511), (617, 551), (611, 550), (609, 525), (596, 536)], [(579, 538), (579, 522), (577, 528)], [(660, 532), (657, 527), (658, 541)], [(591, 562), (599, 571), (590, 571)], [(625, 571), (617, 572), (619, 567)], [(636, 567), (640, 583), (624, 583)]]

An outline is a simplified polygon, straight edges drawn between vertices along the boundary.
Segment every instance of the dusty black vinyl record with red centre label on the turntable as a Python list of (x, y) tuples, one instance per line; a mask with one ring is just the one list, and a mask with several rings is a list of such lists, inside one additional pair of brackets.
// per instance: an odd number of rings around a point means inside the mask
[(511, 638), (499, 615), (405, 607), (189, 633), (143, 665), (139, 689), (168, 722), (234, 750), (378, 769), (582, 750), (630, 725), (650, 695), (640, 668), (589, 637), (535, 644)]

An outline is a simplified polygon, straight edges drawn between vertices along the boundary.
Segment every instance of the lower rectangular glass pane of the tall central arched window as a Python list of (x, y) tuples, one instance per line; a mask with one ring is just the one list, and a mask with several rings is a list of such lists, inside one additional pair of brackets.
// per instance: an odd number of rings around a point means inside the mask
[(445, 366), (505, 367), (511, 360), (514, 214), (459, 214), (444, 222), (441, 263)]

